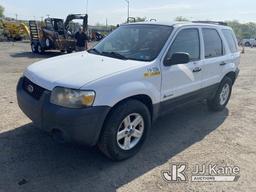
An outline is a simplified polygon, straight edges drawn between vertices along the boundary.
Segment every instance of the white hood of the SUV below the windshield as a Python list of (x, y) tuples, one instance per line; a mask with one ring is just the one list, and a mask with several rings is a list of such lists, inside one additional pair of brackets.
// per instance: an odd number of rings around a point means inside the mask
[(56, 86), (79, 89), (92, 81), (138, 68), (143, 63), (80, 52), (34, 63), (24, 76), (48, 90)]

